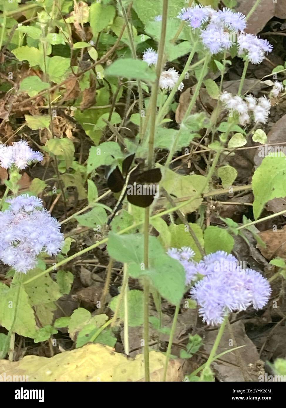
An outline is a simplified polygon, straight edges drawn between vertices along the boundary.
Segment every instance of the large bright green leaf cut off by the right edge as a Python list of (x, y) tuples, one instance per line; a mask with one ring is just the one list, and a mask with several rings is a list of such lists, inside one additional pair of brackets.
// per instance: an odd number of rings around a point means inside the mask
[(273, 198), (286, 196), (286, 157), (282, 152), (270, 154), (262, 160), (252, 178), (255, 220), (264, 204)]

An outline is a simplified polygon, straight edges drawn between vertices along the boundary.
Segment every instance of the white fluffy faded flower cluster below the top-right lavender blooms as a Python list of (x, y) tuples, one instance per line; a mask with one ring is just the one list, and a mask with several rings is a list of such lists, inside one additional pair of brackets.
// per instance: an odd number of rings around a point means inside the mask
[(266, 123), (268, 120), (271, 104), (265, 96), (255, 98), (253, 95), (248, 95), (243, 100), (240, 96), (233, 96), (225, 91), (219, 99), (229, 111), (238, 114), (239, 124), (242, 126), (249, 123), (251, 118), (255, 123)]

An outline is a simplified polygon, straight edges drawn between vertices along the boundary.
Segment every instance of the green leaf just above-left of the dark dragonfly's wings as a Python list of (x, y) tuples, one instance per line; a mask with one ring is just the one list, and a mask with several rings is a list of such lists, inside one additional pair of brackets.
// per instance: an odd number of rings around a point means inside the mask
[(123, 156), (120, 146), (116, 142), (103, 142), (97, 147), (92, 146), (89, 149), (89, 158), (86, 166), (87, 172), (91, 173), (91, 171), (99, 166), (110, 166), (114, 159), (121, 159)]

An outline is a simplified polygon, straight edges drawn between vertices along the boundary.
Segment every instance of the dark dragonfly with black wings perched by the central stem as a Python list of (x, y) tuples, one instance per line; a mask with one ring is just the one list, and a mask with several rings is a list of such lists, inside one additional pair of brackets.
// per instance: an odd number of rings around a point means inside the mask
[[(134, 162), (134, 166), (133, 165)], [(122, 172), (119, 167), (109, 170), (107, 174), (107, 186), (113, 193), (120, 193), (118, 202), (111, 213), (107, 225), (111, 223), (115, 214), (122, 205), (124, 198), (137, 206), (149, 207), (157, 197), (158, 185), (162, 178), (160, 169), (143, 170), (143, 159), (135, 159), (135, 153), (128, 155), (122, 162)]]

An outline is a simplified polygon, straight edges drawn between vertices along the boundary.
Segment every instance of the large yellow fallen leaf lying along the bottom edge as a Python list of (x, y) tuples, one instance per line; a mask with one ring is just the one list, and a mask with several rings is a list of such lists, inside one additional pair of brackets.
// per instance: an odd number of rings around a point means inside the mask
[[(165, 355), (151, 351), (149, 358), (151, 381), (162, 381)], [(181, 364), (179, 359), (169, 362), (167, 381), (183, 380)], [(28, 375), (29, 381), (144, 381), (144, 358), (140, 354), (131, 359), (111, 347), (87, 344), (51, 358), (29, 355), (16, 362), (0, 360), (0, 373), (6, 373), (6, 378)]]

